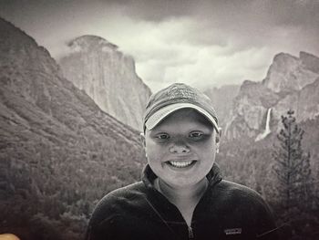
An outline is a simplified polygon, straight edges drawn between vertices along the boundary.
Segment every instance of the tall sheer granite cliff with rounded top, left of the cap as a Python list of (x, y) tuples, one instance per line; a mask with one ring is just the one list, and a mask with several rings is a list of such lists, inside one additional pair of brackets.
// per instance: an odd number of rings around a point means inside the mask
[(59, 60), (64, 76), (101, 110), (141, 130), (150, 90), (137, 76), (133, 58), (96, 36), (77, 37), (68, 46), (71, 53)]

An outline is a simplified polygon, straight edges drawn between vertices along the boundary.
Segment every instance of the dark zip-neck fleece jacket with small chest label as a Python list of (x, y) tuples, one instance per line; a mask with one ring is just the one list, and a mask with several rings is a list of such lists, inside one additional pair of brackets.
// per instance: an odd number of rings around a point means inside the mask
[(153, 187), (147, 165), (142, 182), (108, 193), (87, 227), (87, 240), (102, 239), (277, 239), (273, 215), (262, 197), (240, 184), (221, 180), (216, 164), (209, 187), (189, 227), (178, 208)]

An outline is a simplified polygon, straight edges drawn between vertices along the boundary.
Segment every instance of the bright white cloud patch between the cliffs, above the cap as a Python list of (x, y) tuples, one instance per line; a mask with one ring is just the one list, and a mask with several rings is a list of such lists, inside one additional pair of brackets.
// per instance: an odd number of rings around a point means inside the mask
[(139, 76), (153, 90), (177, 81), (200, 88), (221, 86), (245, 78), (260, 80), (265, 74), (266, 47), (236, 49), (231, 37), (221, 44), (221, 40), (216, 41), (222, 39), (217, 34), (208, 44), (196, 37), (201, 24), (189, 17), (132, 23), (137, 31), (130, 32), (129, 41), (122, 39), (119, 46), (125, 46), (121, 49), (135, 56)]

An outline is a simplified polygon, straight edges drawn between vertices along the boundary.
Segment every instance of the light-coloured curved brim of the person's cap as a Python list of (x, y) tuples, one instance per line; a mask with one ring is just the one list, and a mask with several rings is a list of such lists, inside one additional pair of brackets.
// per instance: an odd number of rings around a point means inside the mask
[(191, 103), (184, 103), (184, 102), (171, 104), (169, 106), (163, 107), (162, 109), (156, 111), (153, 115), (151, 115), (149, 117), (149, 120), (147, 120), (145, 122), (145, 127), (148, 130), (152, 130), (153, 128), (155, 128), (160, 123), (161, 120), (164, 120), (172, 112), (174, 112), (176, 110), (180, 110), (180, 109), (197, 110), (202, 115), (204, 115), (207, 120), (210, 120), (212, 126), (214, 127), (214, 129), (217, 132), (219, 132), (216, 120), (214, 120), (214, 118), (211, 116), (211, 114), (207, 110), (204, 110), (204, 109), (202, 109), (201, 107), (199, 107), (197, 105), (194, 105), (194, 104), (191, 104)]

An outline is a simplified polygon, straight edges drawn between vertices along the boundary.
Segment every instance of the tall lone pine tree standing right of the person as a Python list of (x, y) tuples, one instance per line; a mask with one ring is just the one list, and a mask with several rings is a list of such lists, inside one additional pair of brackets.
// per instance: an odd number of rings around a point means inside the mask
[(278, 180), (278, 195), (288, 218), (296, 210), (307, 211), (312, 202), (313, 179), (310, 153), (304, 153), (304, 130), (296, 123), (293, 110), (282, 116), (283, 129), (277, 135), (279, 144), (274, 145), (273, 170)]

